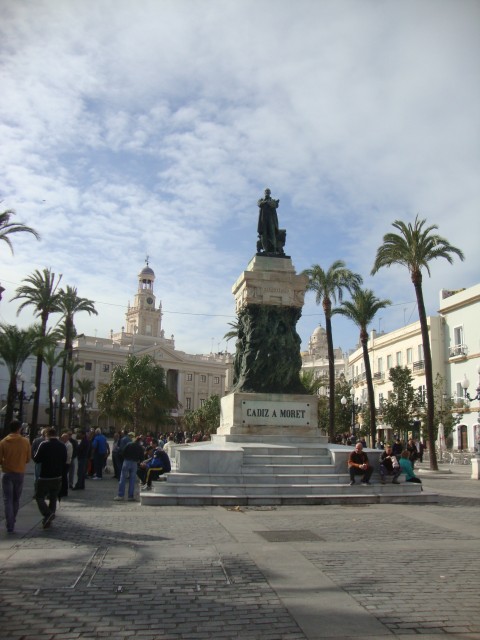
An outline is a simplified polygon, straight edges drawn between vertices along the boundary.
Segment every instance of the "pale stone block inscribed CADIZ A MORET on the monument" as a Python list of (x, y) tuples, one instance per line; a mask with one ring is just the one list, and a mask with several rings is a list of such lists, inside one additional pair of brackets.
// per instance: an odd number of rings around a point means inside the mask
[(220, 401), (217, 435), (319, 436), (318, 400), (306, 394), (244, 393)]

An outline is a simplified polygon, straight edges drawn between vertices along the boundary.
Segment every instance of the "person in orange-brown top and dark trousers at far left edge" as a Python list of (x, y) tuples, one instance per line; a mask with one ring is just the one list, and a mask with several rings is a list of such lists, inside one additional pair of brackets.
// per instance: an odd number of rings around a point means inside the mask
[(21, 428), (22, 425), (19, 420), (12, 420), (10, 433), (0, 442), (3, 502), (8, 533), (14, 533), (15, 521), (20, 507), (25, 467), (31, 458), (30, 442), (28, 438), (24, 438), (21, 435)]

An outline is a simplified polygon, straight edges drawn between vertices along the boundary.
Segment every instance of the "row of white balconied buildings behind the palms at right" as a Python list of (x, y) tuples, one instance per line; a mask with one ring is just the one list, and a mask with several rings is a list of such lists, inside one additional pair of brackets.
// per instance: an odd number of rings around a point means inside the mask
[[(474, 451), (480, 438), (480, 285), (456, 292), (442, 291), (439, 315), (427, 318), (432, 351), (433, 379), (439, 374), (444, 383), (443, 393), (454, 400), (459, 424), (453, 431), (453, 448)], [(413, 387), (425, 393), (425, 365), (423, 359), (420, 322), (414, 322), (390, 333), (377, 335), (372, 331), (368, 352), (375, 391), (375, 406), (387, 400), (393, 385), (389, 380), (392, 367), (406, 366), (413, 376)], [(367, 390), (363, 353), (354, 351), (348, 359), (347, 378), (360, 402), (366, 402)], [(466, 385), (465, 381), (468, 381)], [(464, 386), (471, 401), (464, 400)], [(390, 425), (379, 423), (380, 429)]]

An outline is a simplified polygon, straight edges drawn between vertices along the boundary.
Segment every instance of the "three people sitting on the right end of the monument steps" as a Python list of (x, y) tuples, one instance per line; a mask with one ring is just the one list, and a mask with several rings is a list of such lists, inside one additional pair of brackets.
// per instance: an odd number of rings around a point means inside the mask
[[(380, 482), (385, 484), (386, 476), (392, 476), (392, 483), (399, 484), (398, 478), (400, 474), (404, 473), (406, 482), (421, 484), (422, 481), (415, 475), (413, 470), (414, 463), (412, 463), (410, 456), (411, 452), (408, 449), (404, 449), (400, 456), (397, 457), (394, 453), (394, 448), (391, 445), (387, 445), (380, 455)], [(355, 484), (356, 476), (361, 477), (362, 484), (369, 485), (373, 470), (373, 466), (368, 460), (368, 455), (363, 450), (362, 443), (357, 442), (355, 449), (348, 458), (350, 486)]]

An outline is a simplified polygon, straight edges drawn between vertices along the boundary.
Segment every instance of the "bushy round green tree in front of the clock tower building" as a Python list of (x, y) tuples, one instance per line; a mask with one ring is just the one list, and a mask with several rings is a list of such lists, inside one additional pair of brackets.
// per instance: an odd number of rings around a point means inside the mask
[(135, 432), (178, 405), (167, 389), (165, 371), (150, 355), (128, 356), (99, 390), (97, 400), (101, 411), (130, 424)]

